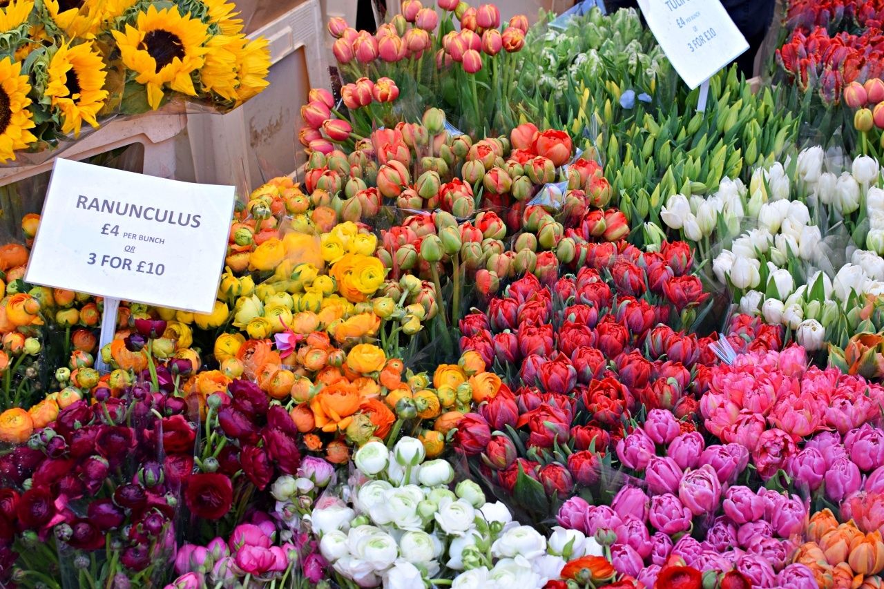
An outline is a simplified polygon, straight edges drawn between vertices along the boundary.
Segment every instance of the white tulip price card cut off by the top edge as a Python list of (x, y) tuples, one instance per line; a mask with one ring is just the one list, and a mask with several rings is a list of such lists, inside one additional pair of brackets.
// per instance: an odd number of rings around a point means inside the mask
[(720, 0), (638, 0), (638, 6), (690, 89), (749, 50)]

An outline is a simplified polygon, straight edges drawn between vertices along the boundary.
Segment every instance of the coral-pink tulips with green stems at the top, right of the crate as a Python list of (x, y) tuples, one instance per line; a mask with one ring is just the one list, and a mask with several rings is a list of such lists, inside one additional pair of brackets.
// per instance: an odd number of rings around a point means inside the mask
[(375, 34), (331, 19), (328, 29), (335, 37), (332, 50), (340, 72), (357, 87), (373, 74), (384, 76), (408, 92), (418, 111), (441, 98), (462, 128), (511, 128), (517, 54), (525, 44), (528, 18), (519, 15), (502, 23), (494, 4), (473, 7), (442, 0), (438, 6), (441, 16), (435, 7), (408, 0), (401, 14)]

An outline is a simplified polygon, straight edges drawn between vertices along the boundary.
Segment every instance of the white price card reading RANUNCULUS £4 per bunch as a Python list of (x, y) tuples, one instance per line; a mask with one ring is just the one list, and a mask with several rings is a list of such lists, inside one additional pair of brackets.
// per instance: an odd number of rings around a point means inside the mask
[(57, 159), (25, 281), (210, 313), (235, 199), (232, 186)]

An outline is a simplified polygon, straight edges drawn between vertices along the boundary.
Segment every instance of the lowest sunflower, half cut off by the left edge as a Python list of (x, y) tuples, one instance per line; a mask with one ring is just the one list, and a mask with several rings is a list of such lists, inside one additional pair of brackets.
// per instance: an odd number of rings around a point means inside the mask
[(31, 85), (21, 75), (21, 63), (10, 57), (0, 60), (0, 163), (15, 159), (16, 149), (25, 149), (37, 141), (28, 129), (34, 128), (31, 99), (27, 93)]

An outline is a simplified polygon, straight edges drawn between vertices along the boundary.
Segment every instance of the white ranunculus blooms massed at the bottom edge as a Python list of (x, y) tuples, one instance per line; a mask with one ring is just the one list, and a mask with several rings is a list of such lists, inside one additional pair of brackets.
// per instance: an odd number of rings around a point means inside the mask
[(554, 528), (547, 541), (514, 522), (503, 503), (485, 501), (473, 481), (450, 490), (451, 465), (424, 462), (414, 438), (392, 452), (370, 441), (354, 464), (352, 506), (324, 497), (308, 519), (324, 558), (359, 586), (429, 587), (444, 566), (456, 571), (454, 588), (539, 587), (559, 578), (566, 559), (602, 555), (595, 539), (575, 530)]

